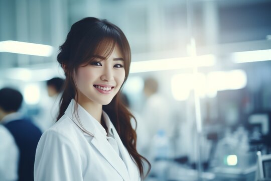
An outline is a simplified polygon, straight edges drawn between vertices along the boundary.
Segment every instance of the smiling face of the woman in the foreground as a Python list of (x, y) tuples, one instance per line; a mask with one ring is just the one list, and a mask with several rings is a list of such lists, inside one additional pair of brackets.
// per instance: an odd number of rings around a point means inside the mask
[(119, 91), (124, 77), (124, 60), (118, 46), (107, 58), (97, 55), (90, 64), (80, 66), (74, 73), (78, 88), (78, 102), (109, 104)]

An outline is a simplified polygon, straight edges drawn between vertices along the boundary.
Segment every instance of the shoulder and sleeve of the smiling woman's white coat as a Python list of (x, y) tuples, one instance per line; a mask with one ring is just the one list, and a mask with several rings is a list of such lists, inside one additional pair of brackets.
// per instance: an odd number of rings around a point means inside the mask
[(80, 176), (77, 173), (81, 173), (81, 155), (84, 152), (80, 133), (72, 123), (64, 115), (43, 133), (36, 150), (35, 180), (76, 180), (71, 177)]

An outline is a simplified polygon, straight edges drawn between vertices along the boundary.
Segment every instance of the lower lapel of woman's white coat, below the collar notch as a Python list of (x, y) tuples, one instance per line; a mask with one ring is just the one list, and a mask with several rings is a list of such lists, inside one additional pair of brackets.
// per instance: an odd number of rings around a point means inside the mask
[(103, 155), (103, 157), (111, 164), (111, 166), (122, 176), (123, 180), (130, 180), (127, 168), (119, 155), (113, 150), (107, 139), (96, 131), (91, 143)]

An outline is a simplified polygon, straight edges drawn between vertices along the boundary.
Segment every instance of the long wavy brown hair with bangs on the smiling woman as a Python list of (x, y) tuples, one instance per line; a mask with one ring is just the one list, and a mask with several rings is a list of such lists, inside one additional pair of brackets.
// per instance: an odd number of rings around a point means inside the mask
[[(116, 45), (119, 47), (124, 59), (125, 82), (129, 74), (131, 52), (123, 32), (114, 24), (97, 18), (84, 18), (72, 25), (66, 41), (59, 48), (60, 52), (57, 56), (57, 60), (62, 65), (66, 75), (57, 121), (64, 115), (71, 100), (77, 100), (78, 94), (73, 78), (74, 72), (77, 72), (79, 66), (93, 61), (94, 55), (109, 57)], [(141, 178), (143, 179), (144, 161), (149, 165), (148, 173), (151, 169), (151, 164), (136, 149), (137, 134), (130, 122), (131, 118), (134, 120), (135, 118), (121, 102), (121, 89), (122, 86), (108, 105), (103, 105), (103, 110), (108, 114), (133, 161), (138, 165)], [(75, 112), (77, 107), (78, 103), (76, 102)]]

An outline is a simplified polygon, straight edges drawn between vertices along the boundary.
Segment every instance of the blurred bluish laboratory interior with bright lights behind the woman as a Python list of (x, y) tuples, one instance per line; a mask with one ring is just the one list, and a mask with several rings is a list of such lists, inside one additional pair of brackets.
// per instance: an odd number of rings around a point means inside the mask
[(41, 132), (59, 100), (49, 80), (65, 79), (58, 48), (84, 17), (129, 41), (122, 96), (145, 180), (271, 180), (271, 1), (0, 0), (0, 89), (22, 93)]

